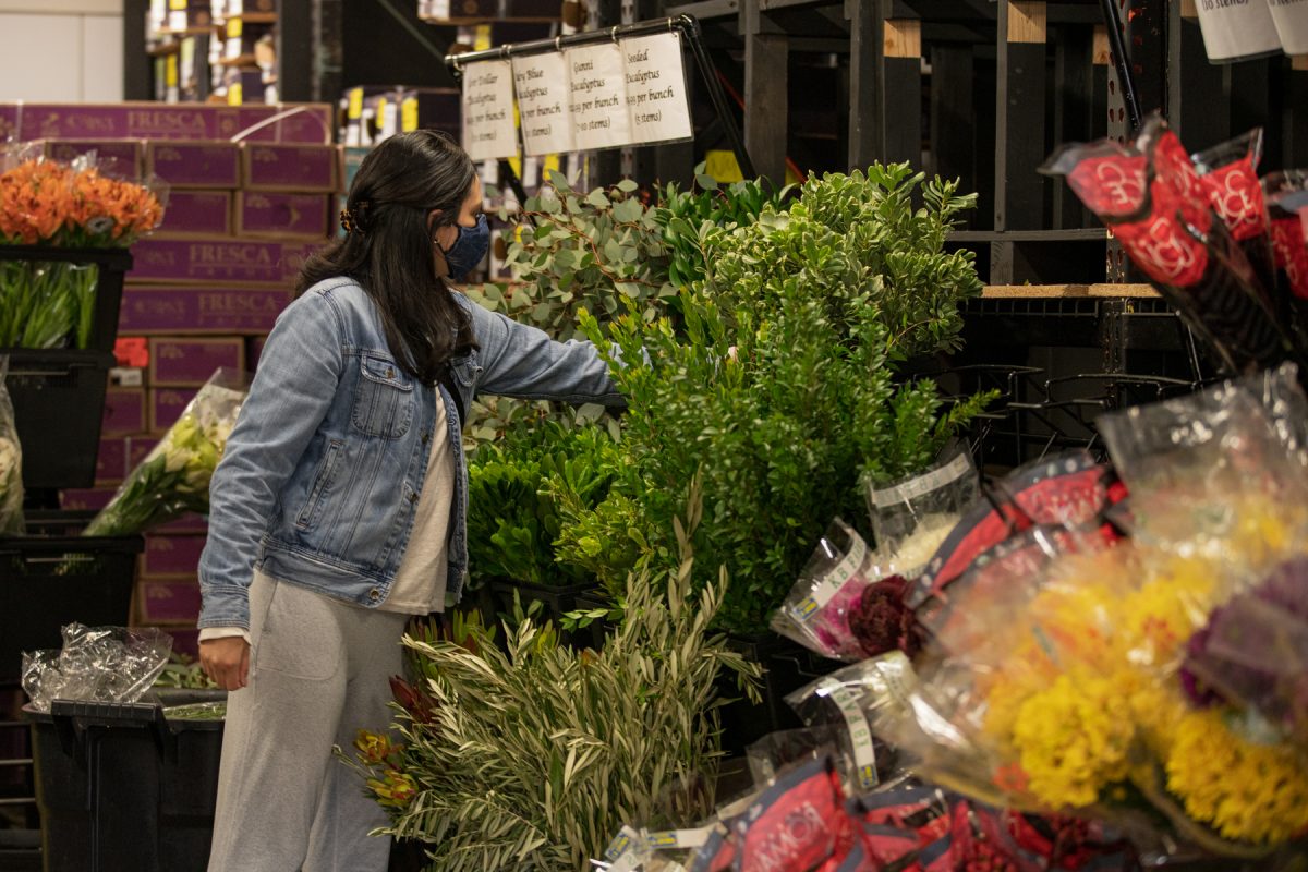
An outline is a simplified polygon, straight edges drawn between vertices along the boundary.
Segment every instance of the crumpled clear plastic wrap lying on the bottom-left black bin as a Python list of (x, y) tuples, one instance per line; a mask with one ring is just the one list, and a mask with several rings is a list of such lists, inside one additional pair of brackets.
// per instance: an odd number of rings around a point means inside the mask
[(50, 711), (54, 699), (136, 702), (173, 651), (173, 637), (158, 628), (69, 624), (63, 637), (59, 651), (22, 655), (22, 689), (37, 711)]

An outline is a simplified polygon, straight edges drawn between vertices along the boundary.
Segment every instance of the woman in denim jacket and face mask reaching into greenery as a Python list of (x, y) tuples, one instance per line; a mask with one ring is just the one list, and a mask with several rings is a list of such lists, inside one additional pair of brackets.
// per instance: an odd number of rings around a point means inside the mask
[(590, 344), (451, 290), (489, 231), (447, 137), (382, 143), (341, 225), (268, 336), (211, 486), (200, 660), (232, 692), (211, 872), (386, 868), (390, 839), (366, 835), (385, 813), (332, 745), (390, 722), (405, 622), (459, 596), (463, 409), (623, 404)]

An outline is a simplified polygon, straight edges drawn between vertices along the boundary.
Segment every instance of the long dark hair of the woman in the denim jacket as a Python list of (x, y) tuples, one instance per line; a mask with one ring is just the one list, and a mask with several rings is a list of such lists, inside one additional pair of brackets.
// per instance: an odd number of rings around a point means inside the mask
[[(458, 221), (473, 178), (472, 161), (443, 133), (413, 131), (382, 141), (349, 188), (353, 229), (307, 259), (296, 295), (324, 278), (353, 278), (377, 303), (400, 369), (434, 384), (450, 358), (476, 346), (468, 315), (432, 256), (436, 227)], [(441, 214), (428, 227), (432, 209)]]

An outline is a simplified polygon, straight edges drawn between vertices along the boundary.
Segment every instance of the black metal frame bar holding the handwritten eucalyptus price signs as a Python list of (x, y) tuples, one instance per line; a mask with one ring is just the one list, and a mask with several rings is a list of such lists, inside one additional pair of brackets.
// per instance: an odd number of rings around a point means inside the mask
[[(753, 178), (756, 175), (753, 170), (753, 161), (749, 159), (749, 152), (746, 149), (744, 137), (740, 135), (740, 126), (735, 123), (735, 116), (731, 114), (731, 107), (727, 105), (726, 94), (722, 90), (722, 82), (718, 81), (717, 68), (713, 64), (713, 59), (709, 58), (708, 48), (704, 46), (704, 30), (700, 27), (700, 21), (695, 16), (681, 14), (653, 21), (637, 21), (636, 24), (616, 25), (606, 30), (585, 30), (566, 37), (555, 37), (553, 39), (532, 39), (530, 42), (500, 46), (498, 48), (467, 51), (459, 55), (446, 55), (445, 65), (450, 68), (450, 72), (456, 80), (462, 81), (463, 67), (466, 64), (475, 64), (479, 60), (506, 60), (514, 56), (560, 51), (561, 48), (572, 46), (590, 46), (608, 41), (616, 42), (623, 37), (645, 37), (657, 33), (671, 33), (674, 30), (680, 30), (687, 44), (691, 47), (691, 55), (695, 58), (695, 65), (700, 69), (700, 77), (704, 80), (704, 85), (709, 90), (709, 99), (713, 102), (713, 111), (717, 112), (718, 119), (722, 122), (727, 141), (731, 144), (731, 150), (735, 152), (736, 163), (740, 165), (740, 173), (747, 179)], [(508, 162), (501, 163), (501, 167), (505, 166), (508, 166)], [(511, 171), (510, 178), (517, 180)], [(521, 183), (514, 184), (510, 182), (510, 186), (514, 187), (514, 192), (518, 193), (522, 200), (526, 200), (526, 195), (521, 191)]]

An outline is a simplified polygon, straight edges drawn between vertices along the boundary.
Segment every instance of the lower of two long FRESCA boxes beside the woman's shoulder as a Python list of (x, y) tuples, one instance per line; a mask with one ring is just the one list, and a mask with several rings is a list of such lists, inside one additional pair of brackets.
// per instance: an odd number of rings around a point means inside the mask
[(276, 288), (123, 289), (118, 328), (124, 333), (267, 333), (290, 305), (290, 285)]

